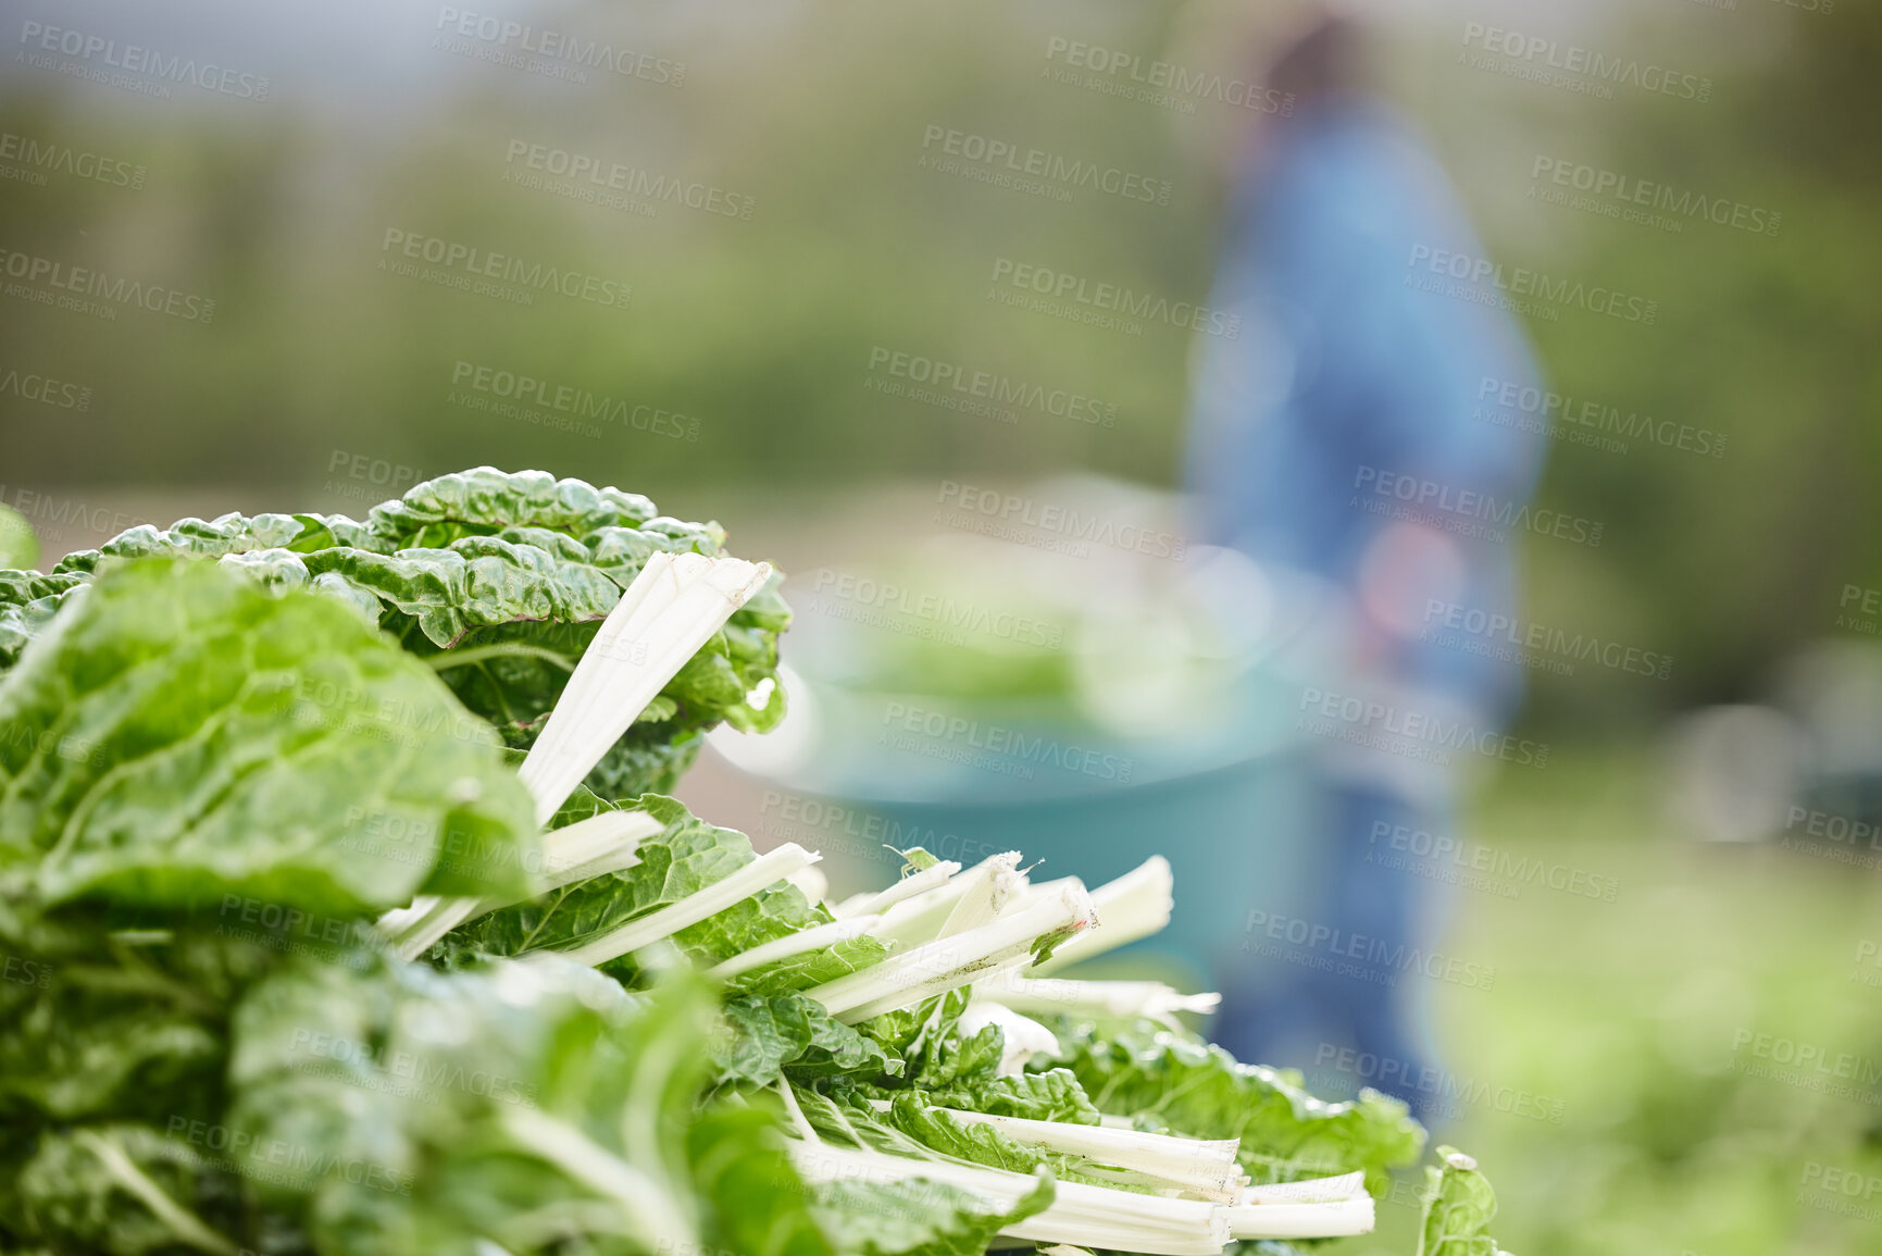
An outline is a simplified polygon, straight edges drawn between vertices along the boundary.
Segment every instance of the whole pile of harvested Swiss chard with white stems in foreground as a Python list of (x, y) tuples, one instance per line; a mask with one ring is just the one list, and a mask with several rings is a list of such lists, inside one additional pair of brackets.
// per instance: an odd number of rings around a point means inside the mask
[[(781, 712), (781, 603), (708, 640), (764, 571), (666, 556), (719, 544), (486, 469), (365, 523), (186, 520), (0, 572), (0, 1247), (1284, 1256), (1366, 1232), (1364, 1186), (1423, 1147), (1402, 1103), (1321, 1103), (1150, 1019), (1210, 996), (1039, 977), (1161, 926), (1161, 861), (1088, 893), (915, 849), (826, 906), (792, 883), (813, 853), (627, 789)], [(689, 635), (614, 667), (659, 595)], [(1489, 1184), (1440, 1156), (1421, 1256), (1498, 1256)]]

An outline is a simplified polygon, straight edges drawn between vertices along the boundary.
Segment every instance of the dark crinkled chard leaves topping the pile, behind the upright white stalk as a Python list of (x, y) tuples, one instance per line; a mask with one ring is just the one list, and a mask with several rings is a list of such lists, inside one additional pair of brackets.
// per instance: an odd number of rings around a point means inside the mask
[[(51, 572), (0, 571), (0, 674), (100, 571), (130, 557), (216, 559), (267, 586), (350, 604), (425, 659), (457, 699), (527, 749), (570, 672), (655, 554), (725, 552), (717, 523), (687, 523), (617, 488), (478, 467), (343, 514), (224, 514), (134, 527)], [(668, 791), (719, 723), (772, 729), (785, 710), (777, 635), (790, 612), (772, 578), (698, 648), (589, 776), (608, 798)], [(657, 640), (614, 650), (646, 657)]]

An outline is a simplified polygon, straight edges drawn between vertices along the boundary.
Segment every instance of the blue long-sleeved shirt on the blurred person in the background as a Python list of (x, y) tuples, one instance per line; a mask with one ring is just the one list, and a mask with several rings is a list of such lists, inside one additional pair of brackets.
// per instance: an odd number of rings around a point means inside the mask
[[(1186, 473), (1199, 531), (1364, 604), (1368, 554), (1378, 584), (1380, 556), (1408, 552), (1385, 533), (1404, 540), (1406, 520), (1425, 520), (1410, 552), (1438, 550), (1449, 574), (1396, 580), (1421, 603), (1413, 618), (1513, 616), (1521, 546), (1564, 542), (1521, 523), (1547, 437), (1498, 397), (1539, 388), (1539, 373), (1485, 258), (1443, 171), (1383, 107), (1282, 122), (1231, 203), (1214, 305), (1242, 326), (1199, 367)], [(1509, 714), (1519, 668), (1398, 620), (1376, 635), (1380, 676), (1489, 721)]]

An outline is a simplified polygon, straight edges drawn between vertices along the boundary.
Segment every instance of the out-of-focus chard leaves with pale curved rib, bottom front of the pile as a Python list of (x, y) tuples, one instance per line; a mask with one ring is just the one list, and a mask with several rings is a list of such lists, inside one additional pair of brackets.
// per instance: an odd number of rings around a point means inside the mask
[(322, 1250), (698, 1250), (757, 1220), (717, 1215), (730, 1184), (768, 1181), (762, 1230), (817, 1252), (770, 1120), (696, 1124), (713, 1015), (696, 981), (630, 996), (561, 960), (294, 964), (237, 1013), (230, 1126), (250, 1147), (324, 1152), (299, 1175), (245, 1166)]

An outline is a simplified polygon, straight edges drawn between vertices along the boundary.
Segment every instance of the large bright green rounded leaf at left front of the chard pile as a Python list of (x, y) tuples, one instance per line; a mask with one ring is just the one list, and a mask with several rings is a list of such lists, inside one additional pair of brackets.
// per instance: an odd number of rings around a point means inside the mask
[(0, 857), (49, 904), (344, 915), (529, 883), (489, 729), (329, 599), (215, 565), (102, 578), (0, 682)]

